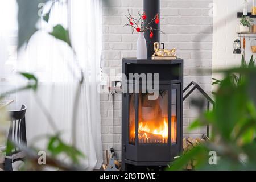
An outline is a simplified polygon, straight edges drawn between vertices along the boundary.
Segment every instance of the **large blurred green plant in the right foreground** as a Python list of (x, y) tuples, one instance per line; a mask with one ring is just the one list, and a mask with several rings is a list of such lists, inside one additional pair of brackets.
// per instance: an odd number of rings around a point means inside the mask
[[(204, 112), (190, 130), (210, 125), (210, 141), (193, 148), (177, 159), (167, 170), (183, 169), (189, 160), (196, 160), (198, 170), (256, 170), (256, 68), (251, 58), (244, 58), (240, 68), (221, 71), (215, 106)], [(234, 77), (237, 78), (234, 78)], [(236, 80), (236, 81), (234, 81)], [(210, 165), (210, 151), (215, 151), (217, 164)]]

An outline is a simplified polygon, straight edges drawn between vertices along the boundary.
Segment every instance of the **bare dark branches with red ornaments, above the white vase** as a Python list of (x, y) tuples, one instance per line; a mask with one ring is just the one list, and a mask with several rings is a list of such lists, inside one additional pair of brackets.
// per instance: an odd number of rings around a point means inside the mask
[(161, 30), (159, 30), (159, 29), (156, 29), (156, 28), (153, 28), (153, 27), (151, 26), (152, 23), (158, 24), (158, 23), (160, 22), (160, 19), (159, 19), (159, 15), (158, 15), (158, 14), (156, 14), (156, 15), (154, 16), (154, 18), (151, 19), (150, 22), (147, 23), (148, 20), (147, 20), (147, 15), (146, 15), (145, 12), (143, 12), (143, 13), (141, 14), (141, 13), (139, 13), (139, 11), (138, 11), (139, 19), (136, 19), (136, 18), (134, 18), (133, 16), (131, 16), (129, 10), (127, 10), (127, 11), (128, 11), (129, 16), (127, 16), (127, 15), (125, 15), (125, 16), (126, 16), (126, 18), (129, 20), (129, 24), (125, 24), (124, 27), (125, 27), (125, 26), (130, 26), (130, 27), (132, 27), (132, 28), (133, 28), (132, 33), (134, 32), (134, 30), (136, 30), (137, 32), (145, 32), (145, 31), (147, 31), (147, 30), (150, 30), (150, 38), (153, 38), (153, 36), (154, 36), (153, 31), (154, 31), (154, 30), (155, 30), (155, 31), (159, 31), (159, 32), (161, 32), (161, 33), (164, 34), (163, 31), (161, 31)]

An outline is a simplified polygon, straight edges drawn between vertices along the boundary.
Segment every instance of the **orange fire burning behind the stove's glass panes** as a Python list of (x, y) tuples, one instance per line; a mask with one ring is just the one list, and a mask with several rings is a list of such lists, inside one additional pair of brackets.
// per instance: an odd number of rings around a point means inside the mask
[[(138, 142), (140, 144), (168, 144), (169, 121), (168, 92), (162, 91), (156, 100), (148, 100), (147, 95), (140, 94), (138, 107)], [(135, 144), (135, 107), (134, 95), (129, 104), (129, 143)], [(177, 117), (176, 105), (172, 105), (171, 143), (176, 143)]]

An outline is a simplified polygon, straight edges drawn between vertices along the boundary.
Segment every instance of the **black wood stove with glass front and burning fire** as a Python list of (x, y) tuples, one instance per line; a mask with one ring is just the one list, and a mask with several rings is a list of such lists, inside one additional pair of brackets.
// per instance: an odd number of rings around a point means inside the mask
[[(123, 86), (133, 88), (122, 96), (122, 169), (167, 166), (182, 151), (183, 60), (123, 59), (122, 72)], [(129, 77), (136, 73), (146, 81)], [(156, 73), (159, 96), (151, 100), (144, 85)]]

